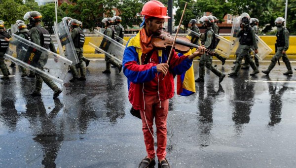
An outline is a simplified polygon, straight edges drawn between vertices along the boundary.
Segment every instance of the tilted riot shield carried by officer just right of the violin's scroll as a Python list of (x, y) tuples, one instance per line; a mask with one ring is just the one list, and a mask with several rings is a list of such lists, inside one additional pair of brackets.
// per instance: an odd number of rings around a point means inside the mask
[[(197, 34), (196, 32), (193, 32), (190, 29), (187, 29), (188, 33), (192, 33), (195, 35), (200, 36), (200, 34)], [(215, 34), (216, 36), (216, 43), (217, 46), (215, 48), (215, 52), (217, 52), (218, 54), (220, 54), (221, 56), (225, 57), (225, 58), (229, 58), (229, 45), (230, 45), (230, 41), (227, 40), (226, 38), (223, 38), (222, 36)]]

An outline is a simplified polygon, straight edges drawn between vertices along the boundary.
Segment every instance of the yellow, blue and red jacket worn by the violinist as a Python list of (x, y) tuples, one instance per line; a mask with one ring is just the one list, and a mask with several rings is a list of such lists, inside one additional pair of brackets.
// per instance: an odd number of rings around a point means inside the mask
[[(177, 55), (174, 52), (169, 63), (169, 72), (163, 77), (162, 73), (157, 72), (156, 64), (142, 65), (140, 40), (139, 33), (130, 38), (124, 50), (122, 65), (123, 73), (128, 78), (129, 101), (135, 109), (144, 110), (144, 82), (151, 81), (157, 76), (159, 79), (158, 97), (160, 101), (170, 99), (174, 96), (175, 91), (174, 76), (188, 70), (192, 65), (192, 60), (188, 59), (188, 56), (183, 54)], [(166, 63), (168, 59), (166, 49), (157, 51), (158, 64)]]

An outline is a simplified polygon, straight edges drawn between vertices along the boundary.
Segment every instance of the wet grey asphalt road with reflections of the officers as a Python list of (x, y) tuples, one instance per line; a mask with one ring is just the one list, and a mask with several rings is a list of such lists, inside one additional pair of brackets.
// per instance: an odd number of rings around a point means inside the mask
[[(215, 64), (224, 73), (233, 66)], [(146, 156), (142, 122), (129, 113), (126, 77), (115, 68), (102, 74), (104, 67), (92, 60), (85, 82), (69, 83), (69, 73), (56, 100), (45, 84), (41, 98), (28, 96), (34, 79), (9, 67), (15, 76), (0, 82), (0, 168), (137, 168)], [(296, 72), (285, 71), (284, 63), (269, 78), (241, 70), (219, 85), (206, 70), (194, 95), (170, 100), (171, 166), (295, 168)]]

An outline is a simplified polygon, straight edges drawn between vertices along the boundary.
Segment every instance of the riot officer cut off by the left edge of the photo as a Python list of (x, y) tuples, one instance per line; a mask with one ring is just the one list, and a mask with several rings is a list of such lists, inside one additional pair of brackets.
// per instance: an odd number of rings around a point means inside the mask
[(0, 22), (0, 69), (3, 74), (3, 77), (0, 79), (9, 79), (9, 71), (4, 63), (4, 54), (9, 47), (9, 38), (11, 38), (11, 36), (4, 31), (4, 24)]

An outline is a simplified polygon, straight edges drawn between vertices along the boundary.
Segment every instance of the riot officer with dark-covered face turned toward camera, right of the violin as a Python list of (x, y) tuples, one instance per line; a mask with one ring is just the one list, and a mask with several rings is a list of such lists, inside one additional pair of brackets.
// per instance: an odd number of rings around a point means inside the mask
[(242, 13), (241, 14), (241, 24), (240, 24), (241, 30), (239, 31), (237, 37), (240, 37), (239, 43), (241, 45), (239, 55), (236, 58), (235, 61), (235, 67), (231, 73), (229, 73), (229, 76), (237, 76), (238, 71), (241, 68), (242, 59), (245, 58), (246, 64), (250, 64), (250, 66), (253, 68), (253, 72), (250, 75), (255, 75), (259, 73), (258, 68), (256, 67), (255, 63), (253, 62), (251, 56), (250, 56), (250, 48), (253, 45), (255, 49), (255, 53), (258, 53), (258, 46), (257, 41), (255, 37), (255, 31), (250, 26), (250, 15), (248, 13)]

